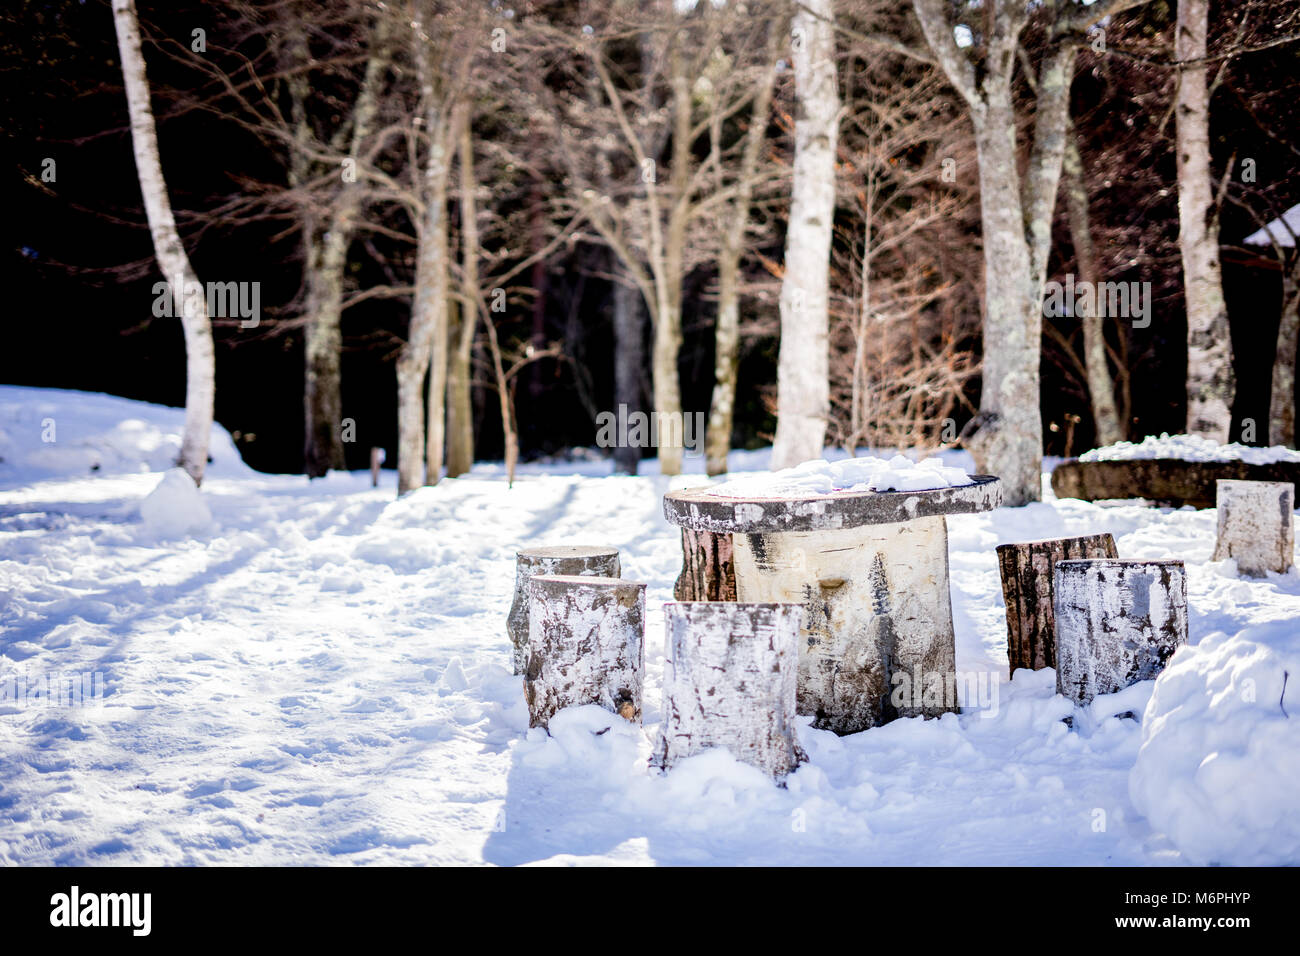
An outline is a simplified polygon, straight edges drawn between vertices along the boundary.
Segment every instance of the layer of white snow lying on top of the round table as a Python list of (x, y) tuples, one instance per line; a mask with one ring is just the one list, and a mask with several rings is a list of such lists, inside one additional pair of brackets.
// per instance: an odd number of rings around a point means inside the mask
[(803, 462), (794, 468), (732, 479), (708, 489), (723, 498), (794, 498), (832, 492), (928, 492), (972, 484), (962, 468), (937, 458), (913, 462), (904, 455)]

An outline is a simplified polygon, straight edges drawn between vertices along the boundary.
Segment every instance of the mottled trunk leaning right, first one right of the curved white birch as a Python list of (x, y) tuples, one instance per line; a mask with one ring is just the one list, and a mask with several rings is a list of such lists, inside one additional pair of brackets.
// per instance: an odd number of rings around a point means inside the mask
[[(341, 438), (343, 273), (365, 189), (364, 182), (358, 178), (360, 176), (358, 165), (361, 148), (374, 125), (380, 87), (389, 69), (387, 22), (387, 17), (380, 17), (374, 26), (374, 44), (365, 62), (365, 74), (352, 111), (352, 133), (347, 152), (351, 160), (351, 176), (343, 179), (316, 255), (308, 258), (303, 459), (309, 477), (321, 477), (330, 468), (347, 467)], [(342, 176), (343, 170), (338, 174)]]

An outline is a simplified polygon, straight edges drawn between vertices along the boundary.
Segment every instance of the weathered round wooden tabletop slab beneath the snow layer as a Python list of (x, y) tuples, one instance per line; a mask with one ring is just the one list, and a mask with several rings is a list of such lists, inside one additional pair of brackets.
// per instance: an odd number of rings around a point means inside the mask
[(712, 485), (663, 496), (663, 516), (692, 531), (715, 535), (776, 535), (893, 524), (936, 515), (991, 511), (1002, 503), (1002, 483), (971, 475), (971, 484), (926, 492), (832, 492), (793, 497), (729, 498)]

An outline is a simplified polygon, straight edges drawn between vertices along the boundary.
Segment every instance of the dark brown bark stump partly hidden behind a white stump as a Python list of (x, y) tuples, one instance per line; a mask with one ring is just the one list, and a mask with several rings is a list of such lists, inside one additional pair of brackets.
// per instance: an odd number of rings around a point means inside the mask
[(1118, 558), (1110, 535), (1022, 541), (997, 546), (1006, 598), (1006, 657), (1009, 675), (1018, 667), (1056, 667), (1056, 619), (1052, 611), (1052, 571), (1070, 558)]

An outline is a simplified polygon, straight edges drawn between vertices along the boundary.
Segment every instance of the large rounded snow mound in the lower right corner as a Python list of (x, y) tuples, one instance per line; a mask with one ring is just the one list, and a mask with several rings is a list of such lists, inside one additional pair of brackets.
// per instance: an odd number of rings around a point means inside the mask
[(1300, 864), (1294, 620), (1179, 649), (1156, 679), (1128, 793), (1195, 864)]

